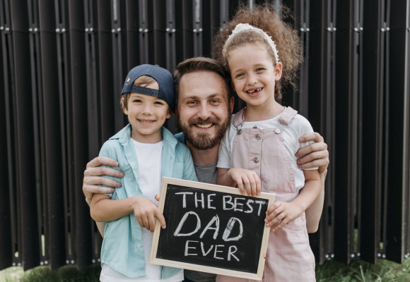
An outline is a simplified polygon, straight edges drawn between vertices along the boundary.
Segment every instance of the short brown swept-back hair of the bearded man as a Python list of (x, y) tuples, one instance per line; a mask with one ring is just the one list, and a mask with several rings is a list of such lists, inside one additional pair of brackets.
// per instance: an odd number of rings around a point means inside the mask
[(180, 97), (180, 82), (182, 76), (187, 73), (194, 73), (197, 71), (210, 71), (211, 73), (220, 75), (221, 78), (223, 78), (225, 90), (228, 93), (228, 101), (230, 100), (232, 93), (230, 88), (230, 75), (228, 71), (221, 65), (221, 63), (219, 63), (215, 59), (206, 57), (194, 57), (178, 63), (178, 66), (173, 73), (176, 109), (178, 108), (178, 99)]

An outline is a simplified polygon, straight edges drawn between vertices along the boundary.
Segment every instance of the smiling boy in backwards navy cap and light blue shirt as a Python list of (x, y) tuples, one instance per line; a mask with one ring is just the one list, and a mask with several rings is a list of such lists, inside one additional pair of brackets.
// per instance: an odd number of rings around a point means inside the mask
[(129, 71), (122, 89), (122, 109), (129, 124), (102, 145), (100, 156), (116, 159), (122, 188), (95, 194), (90, 213), (107, 221), (101, 247), (100, 281), (184, 280), (182, 269), (149, 264), (155, 219), (165, 219), (154, 196), (162, 176), (197, 181), (188, 148), (163, 127), (175, 104), (174, 81), (159, 66)]

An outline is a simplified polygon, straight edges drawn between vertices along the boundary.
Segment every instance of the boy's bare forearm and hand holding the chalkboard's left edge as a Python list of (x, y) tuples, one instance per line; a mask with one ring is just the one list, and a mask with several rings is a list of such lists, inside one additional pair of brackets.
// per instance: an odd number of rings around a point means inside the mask
[(155, 219), (165, 228), (165, 218), (156, 204), (146, 197), (136, 196), (111, 200), (110, 196), (95, 194), (91, 200), (90, 214), (97, 221), (115, 221), (134, 212), (141, 227), (154, 231)]

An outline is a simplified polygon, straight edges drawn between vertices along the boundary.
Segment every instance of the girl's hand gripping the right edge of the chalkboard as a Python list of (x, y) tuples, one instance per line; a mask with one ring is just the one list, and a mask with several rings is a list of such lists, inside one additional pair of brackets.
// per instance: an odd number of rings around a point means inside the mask
[[(273, 232), (278, 231), (288, 222), (297, 219), (303, 213), (303, 208), (293, 202), (274, 202), (266, 211), (266, 226), (275, 226)], [(279, 224), (278, 224), (279, 223)]]

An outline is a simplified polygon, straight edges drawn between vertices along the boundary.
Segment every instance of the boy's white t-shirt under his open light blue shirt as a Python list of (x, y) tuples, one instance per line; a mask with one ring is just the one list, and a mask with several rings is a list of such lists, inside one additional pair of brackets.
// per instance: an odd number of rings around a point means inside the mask
[[(158, 143), (141, 143), (134, 139), (134, 148), (136, 153), (136, 159), (138, 159), (138, 185), (144, 197), (153, 201), (158, 205), (158, 201), (155, 200), (155, 195), (160, 193), (161, 186), (161, 160), (163, 152), (163, 142)], [(124, 274), (115, 271), (108, 264), (102, 264), (102, 270), (100, 274), (100, 281), (106, 282), (130, 282), (130, 281), (146, 281), (146, 282), (180, 282), (184, 280), (184, 271), (166, 279), (161, 279), (161, 268), (157, 264), (150, 264), (149, 257), (151, 253), (151, 245), (153, 240), (153, 233), (146, 228), (141, 228), (141, 241), (144, 247), (145, 257), (145, 272), (146, 276), (130, 278)]]

